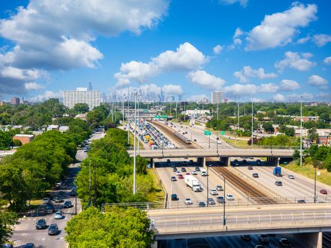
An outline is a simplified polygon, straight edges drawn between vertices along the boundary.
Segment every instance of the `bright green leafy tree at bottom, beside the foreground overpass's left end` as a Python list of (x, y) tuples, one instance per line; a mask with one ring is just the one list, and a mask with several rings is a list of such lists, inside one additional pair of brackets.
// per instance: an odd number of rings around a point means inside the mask
[(105, 214), (92, 207), (74, 216), (66, 240), (78, 247), (150, 247), (153, 232), (145, 211), (112, 207)]

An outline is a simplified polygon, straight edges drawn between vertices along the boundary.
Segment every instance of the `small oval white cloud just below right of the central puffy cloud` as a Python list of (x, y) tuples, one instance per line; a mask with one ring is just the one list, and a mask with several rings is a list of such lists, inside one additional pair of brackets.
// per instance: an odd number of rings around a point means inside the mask
[(208, 74), (204, 70), (196, 70), (188, 73), (188, 79), (196, 85), (208, 90), (220, 90), (225, 83), (224, 79)]

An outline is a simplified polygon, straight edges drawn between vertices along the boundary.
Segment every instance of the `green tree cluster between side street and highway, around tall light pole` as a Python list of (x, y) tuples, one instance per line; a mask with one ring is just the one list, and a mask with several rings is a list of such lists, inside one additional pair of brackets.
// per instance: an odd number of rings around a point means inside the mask
[(77, 193), (83, 203), (88, 205), (92, 201), (100, 207), (102, 203), (147, 200), (153, 185), (146, 172), (147, 161), (137, 156), (137, 194), (132, 194), (133, 158), (126, 152), (127, 146), (126, 132), (113, 128), (107, 131), (105, 138), (92, 143), (88, 158), (81, 163), (77, 176)]

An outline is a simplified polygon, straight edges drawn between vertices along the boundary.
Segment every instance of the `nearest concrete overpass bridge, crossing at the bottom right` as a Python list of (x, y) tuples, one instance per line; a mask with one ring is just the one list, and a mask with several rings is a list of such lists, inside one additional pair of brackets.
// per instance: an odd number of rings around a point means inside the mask
[[(310, 246), (321, 247), (321, 232), (331, 231), (330, 204), (227, 209), (149, 210), (155, 240), (238, 236), (243, 234), (304, 234)], [(308, 234), (309, 233), (309, 234)], [(307, 245), (308, 245), (307, 243)]]

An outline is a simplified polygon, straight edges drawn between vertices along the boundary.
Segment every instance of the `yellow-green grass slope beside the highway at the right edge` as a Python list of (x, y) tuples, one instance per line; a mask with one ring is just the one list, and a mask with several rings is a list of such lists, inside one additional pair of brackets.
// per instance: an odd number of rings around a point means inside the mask
[[(290, 163), (290, 165), (284, 165), (286, 169), (290, 169), (292, 172), (306, 176), (308, 178), (314, 179), (314, 166), (313, 165), (297, 165), (297, 161)], [(317, 172), (321, 172), (321, 176), (316, 176), (316, 180), (324, 183), (325, 185), (331, 186), (331, 172), (328, 172), (326, 169), (318, 169)]]

